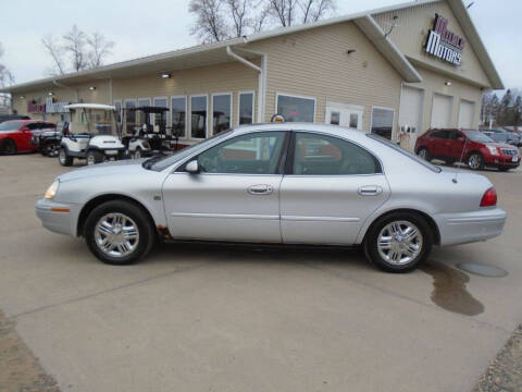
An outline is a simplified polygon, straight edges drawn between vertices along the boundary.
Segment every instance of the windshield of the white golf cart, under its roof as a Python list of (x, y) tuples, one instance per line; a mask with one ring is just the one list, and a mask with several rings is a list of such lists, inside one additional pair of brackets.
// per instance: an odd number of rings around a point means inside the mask
[(71, 115), (69, 132), (74, 135), (110, 135), (117, 136), (114, 112), (101, 109), (77, 109)]

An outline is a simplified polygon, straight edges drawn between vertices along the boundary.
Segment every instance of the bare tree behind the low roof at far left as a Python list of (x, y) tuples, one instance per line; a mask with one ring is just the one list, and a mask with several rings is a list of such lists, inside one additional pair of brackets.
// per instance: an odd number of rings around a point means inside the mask
[(114, 42), (101, 33), (88, 35), (76, 25), (73, 25), (61, 40), (48, 34), (44, 36), (41, 44), (53, 62), (53, 68), (48, 71), (51, 75), (101, 66), (114, 47)]

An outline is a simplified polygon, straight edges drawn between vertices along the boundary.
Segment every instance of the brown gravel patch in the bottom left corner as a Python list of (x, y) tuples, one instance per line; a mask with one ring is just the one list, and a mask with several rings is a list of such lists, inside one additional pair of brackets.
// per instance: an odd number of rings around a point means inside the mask
[(59, 392), (14, 330), (14, 322), (0, 311), (0, 392)]

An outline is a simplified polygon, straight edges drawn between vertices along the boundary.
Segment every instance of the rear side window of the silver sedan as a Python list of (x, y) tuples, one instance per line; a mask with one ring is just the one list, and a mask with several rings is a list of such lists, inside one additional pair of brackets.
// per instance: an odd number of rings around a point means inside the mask
[(296, 133), (296, 175), (350, 175), (382, 173), (378, 160), (348, 140), (318, 134)]

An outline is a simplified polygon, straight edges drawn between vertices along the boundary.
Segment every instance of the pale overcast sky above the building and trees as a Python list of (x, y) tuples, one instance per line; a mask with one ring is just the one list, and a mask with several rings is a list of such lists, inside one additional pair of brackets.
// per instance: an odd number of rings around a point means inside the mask
[[(115, 42), (105, 63), (197, 45), (189, 0), (18, 0), (0, 5), (0, 59), (23, 83), (48, 76), (52, 65), (41, 37), (63, 35), (73, 24)], [(405, 0), (337, 0), (337, 15), (403, 3)], [(465, 4), (472, 0), (464, 0)], [(521, 0), (474, 0), (471, 17), (507, 87), (522, 87)], [(13, 17), (8, 17), (13, 15)], [(427, 26), (426, 26), (427, 27)]]

